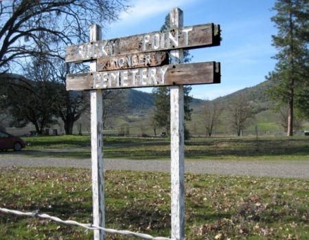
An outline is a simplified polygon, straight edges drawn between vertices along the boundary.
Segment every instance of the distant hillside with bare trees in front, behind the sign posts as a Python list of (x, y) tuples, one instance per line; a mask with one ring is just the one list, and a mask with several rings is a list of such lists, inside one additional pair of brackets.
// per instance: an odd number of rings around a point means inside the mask
[[(190, 103), (190, 107), (193, 109), (192, 120), (187, 121), (187, 128), (190, 134), (209, 135), (209, 132), (212, 133), (210, 135), (216, 135), (218, 133), (237, 134), (240, 133), (240, 129), (242, 129), (243, 133), (254, 133), (255, 126), (258, 127), (258, 131), (261, 133), (268, 131), (271, 133), (283, 133), (286, 129), (284, 127), (284, 120), (281, 119), (282, 114), (279, 109), (276, 109), (275, 102), (268, 96), (268, 89), (272, 85), (273, 83), (270, 80), (265, 80), (253, 87), (247, 87), (214, 100), (208, 101), (192, 98), (192, 102)], [(115, 129), (121, 126), (130, 126), (130, 133), (136, 133), (137, 135), (141, 135), (141, 132), (147, 133), (148, 135), (155, 135), (155, 131), (157, 134), (161, 131), (166, 131), (165, 127), (159, 127), (152, 121), (155, 111), (153, 94), (148, 94), (138, 89), (125, 89), (122, 91), (124, 91), (124, 96), (126, 96), (123, 99), (124, 109), (113, 120), (112, 125)], [(237, 130), (237, 127), (235, 129), (237, 124), (232, 123), (231, 111), (233, 109), (231, 106), (235, 107), (235, 101), (239, 99), (244, 105), (239, 106), (238, 109), (247, 109), (249, 112), (244, 112), (247, 116), (244, 122), (242, 122), (244, 125), (240, 128), (238, 127)], [(169, 102), (169, 99), (167, 98), (166, 101)], [(205, 106), (208, 108), (208, 116), (206, 117), (208, 120), (205, 120)], [(214, 107), (216, 113), (213, 111)], [(299, 120), (297, 122), (299, 124), (295, 125), (296, 131), (308, 127), (308, 122), (306, 121)], [(155, 131), (154, 128), (156, 129)], [(117, 130), (115, 131), (117, 132)]]

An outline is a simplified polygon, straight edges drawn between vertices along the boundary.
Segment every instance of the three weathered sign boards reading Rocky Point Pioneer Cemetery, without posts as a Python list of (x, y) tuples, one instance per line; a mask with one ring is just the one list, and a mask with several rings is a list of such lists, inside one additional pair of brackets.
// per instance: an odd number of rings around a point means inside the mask
[(68, 74), (67, 90), (220, 83), (220, 63), (168, 64), (170, 50), (217, 45), (220, 25), (214, 23), (72, 45), (65, 61), (95, 60), (97, 70)]

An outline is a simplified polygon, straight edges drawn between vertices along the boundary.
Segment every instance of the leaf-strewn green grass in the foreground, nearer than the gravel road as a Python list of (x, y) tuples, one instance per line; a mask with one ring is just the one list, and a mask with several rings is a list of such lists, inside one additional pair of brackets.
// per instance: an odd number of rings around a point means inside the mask
[[(0, 169), (0, 207), (91, 222), (91, 173)], [(105, 173), (106, 226), (170, 236), (170, 175)], [(187, 239), (309, 239), (309, 181), (185, 175)], [(0, 213), (0, 239), (93, 239), (91, 231)], [(135, 239), (108, 235), (106, 239)]]

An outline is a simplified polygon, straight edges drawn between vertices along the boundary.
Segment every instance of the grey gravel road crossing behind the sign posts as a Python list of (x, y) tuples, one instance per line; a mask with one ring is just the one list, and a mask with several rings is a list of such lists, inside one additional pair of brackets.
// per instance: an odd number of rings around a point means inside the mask
[[(105, 169), (131, 171), (170, 172), (170, 161), (164, 160), (116, 160), (105, 159)], [(31, 157), (23, 151), (0, 153), (3, 166), (62, 166), (90, 168), (90, 159), (54, 157)], [(209, 173), (222, 175), (251, 175), (258, 177), (295, 177), (309, 179), (309, 161), (236, 161), (199, 160), (185, 161), (186, 173)]]

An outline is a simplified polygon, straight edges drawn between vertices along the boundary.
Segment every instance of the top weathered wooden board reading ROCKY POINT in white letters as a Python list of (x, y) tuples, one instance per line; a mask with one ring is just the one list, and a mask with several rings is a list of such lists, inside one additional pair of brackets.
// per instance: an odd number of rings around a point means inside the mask
[(80, 62), (119, 54), (139, 54), (174, 49), (192, 49), (220, 45), (220, 25), (214, 23), (172, 28), (119, 39), (93, 41), (67, 47), (65, 61)]

